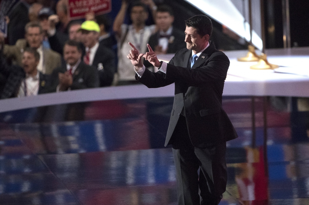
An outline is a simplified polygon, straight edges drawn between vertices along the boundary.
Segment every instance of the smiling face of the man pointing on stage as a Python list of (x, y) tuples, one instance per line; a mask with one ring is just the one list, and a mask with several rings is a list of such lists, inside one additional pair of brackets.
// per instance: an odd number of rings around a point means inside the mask
[(193, 27), (186, 26), (186, 30), (184, 31), (186, 37), (184, 41), (187, 43), (187, 49), (193, 50), (195, 54), (203, 50), (208, 43), (209, 35), (200, 36), (197, 33), (197, 30)]

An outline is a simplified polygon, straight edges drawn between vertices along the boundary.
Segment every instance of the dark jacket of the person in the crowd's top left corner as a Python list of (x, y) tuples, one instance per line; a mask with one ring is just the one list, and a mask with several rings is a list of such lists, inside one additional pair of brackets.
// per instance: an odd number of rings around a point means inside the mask
[(9, 45), (14, 45), (18, 39), (25, 38), (25, 26), (29, 22), (27, 6), (23, 2), (18, 2), (8, 17), (10, 22), (7, 25), (7, 36)]

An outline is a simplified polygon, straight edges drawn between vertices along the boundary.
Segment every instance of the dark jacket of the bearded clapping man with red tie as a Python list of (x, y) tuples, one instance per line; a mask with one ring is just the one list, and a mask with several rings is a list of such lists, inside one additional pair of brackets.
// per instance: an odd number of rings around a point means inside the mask
[[(56, 92), (59, 84), (58, 73), (65, 73), (66, 65), (56, 68), (51, 75), (51, 92)], [(91, 66), (80, 62), (73, 73), (73, 84), (71, 90), (99, 87), (98, 72)]]

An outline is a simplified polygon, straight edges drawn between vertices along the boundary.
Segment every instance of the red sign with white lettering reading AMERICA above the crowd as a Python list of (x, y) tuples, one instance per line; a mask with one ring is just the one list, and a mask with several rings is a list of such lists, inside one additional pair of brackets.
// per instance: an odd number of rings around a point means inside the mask
[(85, 14), (94, 12), (105, 14), (112, 10), (112, 0), (68, 0), (70, 19), (85, 18)]

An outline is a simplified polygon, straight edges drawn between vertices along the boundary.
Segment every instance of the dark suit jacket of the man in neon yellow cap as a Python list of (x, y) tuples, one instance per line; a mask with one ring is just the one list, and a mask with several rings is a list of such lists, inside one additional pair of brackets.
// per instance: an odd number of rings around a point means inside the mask
[(92, 67), (98, 70), (100, 87), (110, 86), (116, 70), (114, 52), (100, 42)]

